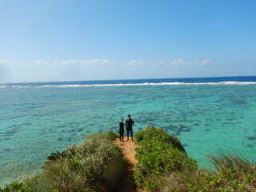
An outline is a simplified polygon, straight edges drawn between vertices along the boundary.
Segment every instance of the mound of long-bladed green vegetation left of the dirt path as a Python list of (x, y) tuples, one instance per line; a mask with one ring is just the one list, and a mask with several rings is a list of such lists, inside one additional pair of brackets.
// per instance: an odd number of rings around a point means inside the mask
[(111, 132), (92, 134), (78, 146), (51, 154), (41, 174), (26, 178), (15, 186), (13, 183), (2, 191), (79, 192), (112, 189), (118, 186), (126, 166), (122, 151), (114, 145), (116, 137)]

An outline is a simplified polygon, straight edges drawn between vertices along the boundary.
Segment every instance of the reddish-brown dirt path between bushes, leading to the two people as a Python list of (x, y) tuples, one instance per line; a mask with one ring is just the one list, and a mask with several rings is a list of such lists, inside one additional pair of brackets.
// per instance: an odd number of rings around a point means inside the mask
[(138, 163), (138, 160), (134, 158), (135, 151), (134, 149), (138, 146), (135, 145), (131, 140), (126, 141), (126, 137), (124, 138), (125, 142), (120, 142), (119, 138), (114, 142), (118, 147), (122, 149), (124, 157), (128, 162), (126, 173), (122, 179), (121, 188), (118, 190), (120, 192), (135, 192), (136, 185), (134, 183), (134, 166)]

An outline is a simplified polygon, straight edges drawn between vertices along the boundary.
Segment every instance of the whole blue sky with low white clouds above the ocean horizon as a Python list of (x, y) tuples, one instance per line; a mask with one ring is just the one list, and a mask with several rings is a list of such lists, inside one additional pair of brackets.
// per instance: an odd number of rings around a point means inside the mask
[(254, 0), (0, 0), (0, 83), (256, 75)]

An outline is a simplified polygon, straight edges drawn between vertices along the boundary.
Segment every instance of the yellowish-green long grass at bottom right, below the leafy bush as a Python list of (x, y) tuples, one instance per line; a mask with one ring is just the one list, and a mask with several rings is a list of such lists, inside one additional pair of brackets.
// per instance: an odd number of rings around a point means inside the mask
[[(255, 164), (234, 155), (212, 158), (217, 172), (194, 169), (172, 171), (147, 178), (157, 181), (153, 191), (161, 192), (254, 192), (256, 191)], [(149, 190), (152, 190), (148, 187)]]

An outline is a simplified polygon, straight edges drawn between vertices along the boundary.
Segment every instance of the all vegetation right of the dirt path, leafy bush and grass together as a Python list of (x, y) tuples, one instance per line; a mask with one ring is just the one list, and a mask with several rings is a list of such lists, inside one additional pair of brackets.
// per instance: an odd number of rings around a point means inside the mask
[(256, 191), (256, 164), (234, 155), (211, 157), (216, 171), (202, 170), (178, 138), (148, 127), (135, 135), (135, 181), (142, 190), (163, 192)]

